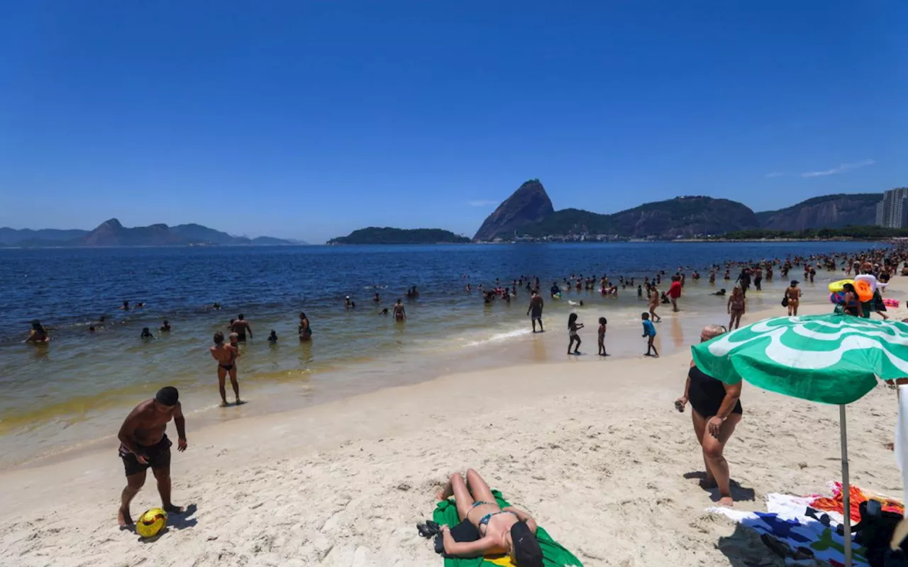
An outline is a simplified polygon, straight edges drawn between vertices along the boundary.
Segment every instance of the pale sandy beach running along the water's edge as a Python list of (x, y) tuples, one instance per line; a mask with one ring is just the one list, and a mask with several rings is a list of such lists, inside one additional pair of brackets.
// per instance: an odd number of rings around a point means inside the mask
[[(889, 297), (908, 296), (898, 281)], [(724, 310), (716, 320), (726, 322)], [(468, 466), (586, 565), (782, 564), (751, 534), (705, 513), (711, 494), (685, 478), (704, 468), (689, 409), (678, 414), (672, 404), (688, 362), (681, 352), (536, 364), (202, 430), (190, 418), (190, 448), (173, 453), (173, 499), (196, 510), (152, 543), (117, 529), (124, 480), (112, 438), (100, 454), (0, 475), (0, 564), (440, 567), (414, 525), (430, 517), (436, 486)], [(766, 493), (809, 494), (839, 478), (837, 407), (753, 386), (742, 403), (726, 457), (737, 496), (754, 500), (738, 506), (762, 509)], [(878, 387), (849, 412), (854, 484), (901, 494), (884, 447), (893, 391)], [(133, 515), (156, 505), (149, 474)]]

